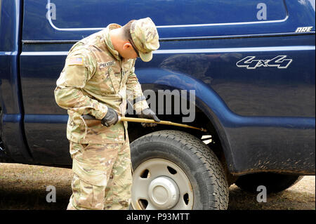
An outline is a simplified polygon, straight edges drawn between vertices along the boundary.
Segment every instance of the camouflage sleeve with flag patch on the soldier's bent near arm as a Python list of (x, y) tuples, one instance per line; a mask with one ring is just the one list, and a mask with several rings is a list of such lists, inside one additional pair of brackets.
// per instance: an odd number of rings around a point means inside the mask
[(58, 78), (55, 88), (56, 103), (79, 114), (91, 114), (103, 119), (107, 106), (84, 95), (82, 88), (96, 72), (96, 60), (91, 54), (75, 52), (67, 56), (65, 67)]

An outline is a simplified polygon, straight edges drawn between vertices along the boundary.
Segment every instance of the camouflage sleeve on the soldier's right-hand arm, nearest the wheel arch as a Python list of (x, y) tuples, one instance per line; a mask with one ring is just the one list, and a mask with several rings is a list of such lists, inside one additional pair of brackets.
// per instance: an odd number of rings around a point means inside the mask
[[(133, 63), (135, 64), (135, 61)], [(136, 110), (136, 114), (140, 114), (142, 110), (149, 107), (136, 77), (134, 65), (126, 81), (126, 94), (127, 100), (133, 102), (133, 107), (134, 110)]]

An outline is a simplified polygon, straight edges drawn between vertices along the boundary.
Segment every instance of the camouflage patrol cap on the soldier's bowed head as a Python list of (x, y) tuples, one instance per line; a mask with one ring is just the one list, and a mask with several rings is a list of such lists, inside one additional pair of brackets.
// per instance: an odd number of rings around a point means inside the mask
[(144, 62), (152, 60), (152, 51), (159, 48), (159, 36), (154, 22), (147, 17), (131, 24), (131, 37)]

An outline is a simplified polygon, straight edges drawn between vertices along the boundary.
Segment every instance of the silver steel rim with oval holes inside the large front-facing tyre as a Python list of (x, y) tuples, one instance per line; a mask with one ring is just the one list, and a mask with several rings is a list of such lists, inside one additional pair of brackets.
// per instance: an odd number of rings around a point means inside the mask
[(193, 209), (193, 190), (180, 167), (167, 159), (148, 159), (133, 171), (133, 209)]

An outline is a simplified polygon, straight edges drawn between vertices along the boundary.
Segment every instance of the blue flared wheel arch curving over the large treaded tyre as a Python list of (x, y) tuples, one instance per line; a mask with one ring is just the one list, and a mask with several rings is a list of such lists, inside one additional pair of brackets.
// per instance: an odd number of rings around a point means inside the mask
[(206, 114), (213, 124), (222, 143), (226, 162), (230, 167), (234, 167), (232, 151), (223, 126), (223, 121), (225, 123), (225, 120), (232, 112), (213, 89), (206, 86), (199, 79), (171, 70), (157, 68), (136, 69), (136, 74), (142, 85), (150, 84), (152, 87), (152, 84), (154, 84), (157, 88), (161, 88), (164, 85), (186, 91), (194, 89), (195, 105)]

